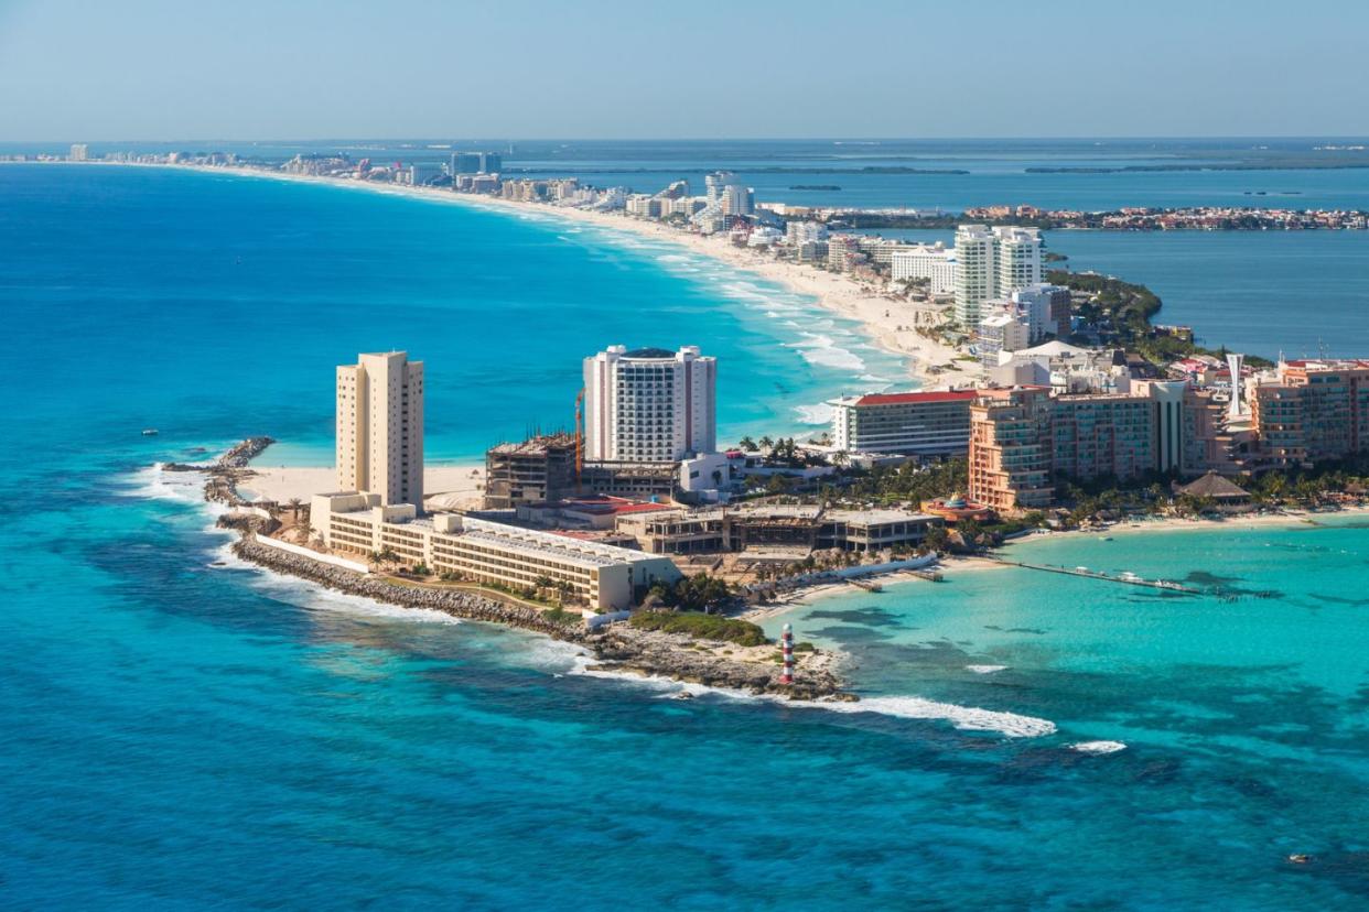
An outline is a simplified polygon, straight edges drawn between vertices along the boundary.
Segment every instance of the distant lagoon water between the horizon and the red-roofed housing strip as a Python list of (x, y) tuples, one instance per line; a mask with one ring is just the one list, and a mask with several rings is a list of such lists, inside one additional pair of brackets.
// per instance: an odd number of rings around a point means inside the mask
[[(961, 212), (967, 206), (1029, 202), (1065, 209), (1120, 206), (1291, 206), (1369, 209), (1369, 170), (1270, 168), (1261, 171), (1113, 171), (1028, 174), (1028, 168), (1125, 168), (1210, 165), (1261, 160), (1272, 164), (1362, 160), (1364, 138), (1034, 138), (1034, 139), (535, 139), (509, 148), (504, 139), (334, 139), (324, 142), (94, 142), (92, 155), (223, 150), (267, 161), (297, 153), (375, 161), (448, 160), (450, 148), (498, 149), (515, 175), (579, 176), (600, 186), (656, 193), (726, 168), (756, 189), (758, 200), (821, 206), (912, 206)], [(449, 148), (450, 146), (450, 148)], [(0, 142), (0, 153), (66, 155), (62, 144)], [(913, 168), (924, 174), (888, 174)], [(962, 174), (925, 174), (925, 171)], [(795, 187), (838, 187), (801, 190)]]

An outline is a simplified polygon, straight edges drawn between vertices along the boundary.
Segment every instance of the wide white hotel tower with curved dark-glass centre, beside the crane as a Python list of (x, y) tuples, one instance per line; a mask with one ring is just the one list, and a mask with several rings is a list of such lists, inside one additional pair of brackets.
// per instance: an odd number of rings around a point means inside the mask
[(585, 358), (585, 458), (675, 462), (716, 446), (717, 362), (679, 351), (615, 345)]

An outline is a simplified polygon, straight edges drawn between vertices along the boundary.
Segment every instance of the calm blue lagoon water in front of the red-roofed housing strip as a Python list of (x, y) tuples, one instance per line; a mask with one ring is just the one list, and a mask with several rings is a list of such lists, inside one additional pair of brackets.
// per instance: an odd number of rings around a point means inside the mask
[[(954, 242), (951, 231), (880, 231)], [(1157, 323), (1276, 358), (1369, 353), (1369, 231), (1047, 231), (1072, 269), (1150, 286)]]

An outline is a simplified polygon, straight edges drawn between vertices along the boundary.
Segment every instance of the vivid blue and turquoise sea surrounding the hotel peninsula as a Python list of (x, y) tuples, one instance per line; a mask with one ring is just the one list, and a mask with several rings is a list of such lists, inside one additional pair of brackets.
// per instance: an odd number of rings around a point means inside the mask
[(237, 566), (193, 481), (149, 469), (248, 433), (316, 464), (363, 349), (427, 361), (452, 459), (567, 423), (609, 342), (719, 354), (734, 433), (897, 369), (676, 256), (334, 187), (0, 167), (0, 902), (1369, 904), (1364, 524), (1014, 546), (1235, 602), (1002, 570), (802, 608), (868, 697), (838, 712), (663, 699)]

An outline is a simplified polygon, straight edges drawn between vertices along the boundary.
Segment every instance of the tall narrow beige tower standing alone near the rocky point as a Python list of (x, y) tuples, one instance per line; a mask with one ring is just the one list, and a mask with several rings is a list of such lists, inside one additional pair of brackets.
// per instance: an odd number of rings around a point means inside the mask
[(338, 366), (338, 489), (423, 510), (423, 362), (404, 351)]

